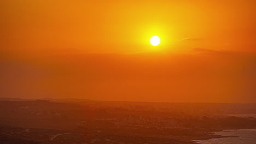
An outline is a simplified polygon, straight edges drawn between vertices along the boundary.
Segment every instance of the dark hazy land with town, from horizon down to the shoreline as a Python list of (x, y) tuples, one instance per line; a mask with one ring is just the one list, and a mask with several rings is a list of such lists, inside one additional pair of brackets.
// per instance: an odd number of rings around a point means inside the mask
[(211, 131), (256, 128), (255, 104), (93, 100), (0, 101), (0, 143), (189, 144)]

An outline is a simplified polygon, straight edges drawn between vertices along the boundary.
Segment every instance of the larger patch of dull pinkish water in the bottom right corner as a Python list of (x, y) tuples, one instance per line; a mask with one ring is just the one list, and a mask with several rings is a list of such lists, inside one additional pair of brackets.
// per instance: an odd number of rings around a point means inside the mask
[(223, 136), (239, 136), (239, 137), (223, 137), (220, 139), (200, 140), (197, 143), (203, 144), (255, 144), (256, 129), (240, 129), (240, 130), (225, 130), (214, 132), (217, 135)]

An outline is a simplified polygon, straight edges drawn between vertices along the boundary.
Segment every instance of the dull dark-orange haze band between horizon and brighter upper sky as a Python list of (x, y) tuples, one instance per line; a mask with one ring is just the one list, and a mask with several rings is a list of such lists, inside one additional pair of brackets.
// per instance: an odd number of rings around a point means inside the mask
[(3, 97), (256, 103), (253, 53), (82, 54), (2, 58)]

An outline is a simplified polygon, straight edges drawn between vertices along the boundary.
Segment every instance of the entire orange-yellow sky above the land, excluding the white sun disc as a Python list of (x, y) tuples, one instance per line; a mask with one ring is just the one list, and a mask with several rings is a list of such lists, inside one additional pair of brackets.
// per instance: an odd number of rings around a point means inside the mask
[(254, 5), (0, 1), (1, 97), (256, 103)]

